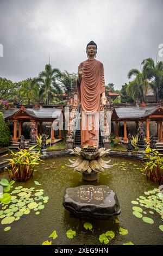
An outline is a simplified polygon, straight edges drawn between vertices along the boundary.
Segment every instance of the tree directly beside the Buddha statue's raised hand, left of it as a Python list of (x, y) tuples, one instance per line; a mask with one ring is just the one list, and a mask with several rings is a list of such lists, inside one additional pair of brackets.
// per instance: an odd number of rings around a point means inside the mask
[(70, 73), (67, 70), (61, 72), (61, 76), (59, 77), (59, 81), (61, 83), (62, 88), (66, 94), (70, 94), (71, 92), (76, 91), (76, 83), (78, 75), (76, 73)]

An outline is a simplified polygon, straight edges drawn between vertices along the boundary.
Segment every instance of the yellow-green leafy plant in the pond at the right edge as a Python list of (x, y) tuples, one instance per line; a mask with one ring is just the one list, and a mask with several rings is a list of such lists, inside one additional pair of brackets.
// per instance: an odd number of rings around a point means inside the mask
[(144, 171), (147, 179), (161, 183), (163, 181), (163, 155), (156, 149), (147, 148), (146, 157), (144, 158)]

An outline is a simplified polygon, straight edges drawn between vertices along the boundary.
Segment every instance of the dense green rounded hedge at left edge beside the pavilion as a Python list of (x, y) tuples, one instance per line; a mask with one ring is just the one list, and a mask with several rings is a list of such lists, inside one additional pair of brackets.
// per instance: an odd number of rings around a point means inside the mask
[(7, 147), (10, 144), (10, 131), (5, 123), (3, 113), (0, 112), (0, 147)]

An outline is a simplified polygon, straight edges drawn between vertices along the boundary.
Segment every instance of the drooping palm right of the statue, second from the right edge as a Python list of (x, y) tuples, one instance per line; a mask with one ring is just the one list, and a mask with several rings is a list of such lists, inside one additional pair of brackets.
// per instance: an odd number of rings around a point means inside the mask
[(145, 101), (145, 95), (149, 89), (149, 81), (146, 76), (144, 69), (139, 71), (138, 69), (131, 69), (128, 72), (128, 78), (135, 76), (134, 80), (129, 82), (127, 87), (128, 96), (132, 97), (133, 100), (140, 99), (141, 103)]

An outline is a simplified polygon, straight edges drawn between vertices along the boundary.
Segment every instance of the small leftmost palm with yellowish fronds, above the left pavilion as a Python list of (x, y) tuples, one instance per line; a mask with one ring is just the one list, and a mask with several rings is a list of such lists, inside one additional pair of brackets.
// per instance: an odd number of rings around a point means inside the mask
[(20, 85), (20, 95), (28, 99), (28, 105), (30, 104), (30, 100), (34, 102), (39, 100), (39, 84), (34, 79), (28, 78), (27, 80), (23, 80), (20, 82)]

